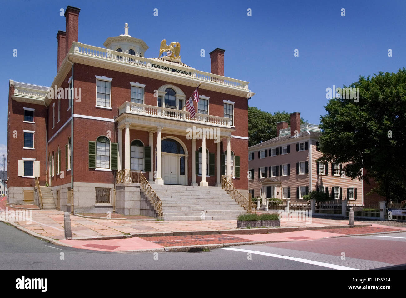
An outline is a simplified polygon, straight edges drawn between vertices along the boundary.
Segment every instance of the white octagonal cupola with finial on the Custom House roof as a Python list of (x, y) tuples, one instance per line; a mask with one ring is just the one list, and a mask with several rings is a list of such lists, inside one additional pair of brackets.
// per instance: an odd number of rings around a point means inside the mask
[(116, 37), (109, 37), (103, 43), (106, 49), (127, 53), (134, 56), (145, 57), (145, 51), (149, 49), (148, 45), (142, 39), (134, 38), (128, 35), (128, 24), (125, 23), (124, 34)]

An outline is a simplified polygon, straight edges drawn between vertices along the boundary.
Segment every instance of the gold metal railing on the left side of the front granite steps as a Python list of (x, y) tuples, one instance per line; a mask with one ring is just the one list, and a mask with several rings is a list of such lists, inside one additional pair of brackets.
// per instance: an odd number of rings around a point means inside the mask
[(117, 171), (117, 184), (119, 183), (139, 183), (144, 194), (148, 196), (148, 200), (155, 208), (158, 217), (163, 216), (162, 201), (151, 187), (148, 180), (145, 178), (142, 171), (120, 170)]

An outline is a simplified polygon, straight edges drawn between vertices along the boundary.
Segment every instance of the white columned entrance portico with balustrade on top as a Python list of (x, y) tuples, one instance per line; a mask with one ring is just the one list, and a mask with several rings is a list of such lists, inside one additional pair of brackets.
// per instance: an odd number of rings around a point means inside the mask
[[(127, 101), (119, 108), (116, 122), (119, 171), (142, 170), (150, 184), (192, 186), (209, 186), (209, 181), (210, 186), (221, 186), (224, 165), (226, 173), (234, 173), (231, 133), (235, 128), (229, 118), (207, 114), (191, 118), (187, 111)], [(143, 143), (142, 156), (140, 147), (132, 145), (135, 138)], [(199, 183), (197, 177), (201, 177)]]

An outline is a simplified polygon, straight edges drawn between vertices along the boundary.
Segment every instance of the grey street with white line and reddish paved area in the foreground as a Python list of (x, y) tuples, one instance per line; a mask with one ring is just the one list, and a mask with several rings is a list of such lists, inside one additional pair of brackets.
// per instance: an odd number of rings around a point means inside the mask
[(105, 253), (50, 244), (0, 222), (0, 270), (362, 270), (403, 263), (406, 233), (233, 246), (199, 253)]

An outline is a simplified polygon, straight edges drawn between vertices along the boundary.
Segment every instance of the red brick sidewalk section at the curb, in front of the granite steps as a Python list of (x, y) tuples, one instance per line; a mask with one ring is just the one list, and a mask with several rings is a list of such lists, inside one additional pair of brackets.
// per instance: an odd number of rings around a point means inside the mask
[(251, 240), (248, 239), (222, 234), (146, 237), (142, 239), (145, 239), (149, 242), (153, 242), (156, 244), (160, 244), (162, 246), (185, 246), (185, 245), (201, 245), (201, 244), (251, 242)]

